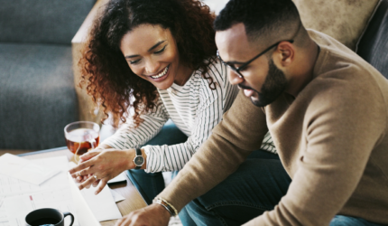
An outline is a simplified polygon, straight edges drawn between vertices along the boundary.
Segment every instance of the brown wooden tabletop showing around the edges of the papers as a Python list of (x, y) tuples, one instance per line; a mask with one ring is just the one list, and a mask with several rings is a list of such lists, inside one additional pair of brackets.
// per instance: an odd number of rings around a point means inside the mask
[[(27, 159), (38, 159), (38, 158), (46, 158), (46, 157), (53, 157), (53, 156), (60, 156), (60, 155), (68, 156), (69, 161), (71, 161), (73, 158), (73, 154), (69, 151), (67, 147), (60, 147), (60, 148), (54, 148), (54, 149), (43, 150), (38, 152), (31, 152), (31, 153), (22, 154), (20, 156)], [(125, 216), (129, 212), (133, 212), (135, 210), (138, 210), (146, 206), (146, 203), (144, 202), (142, 195), (140, 195), (140, 193), (137, 191), (137, 189), (134, 187), (134, 184), (131, 183), (128, 177), (126, 178), (126, 184), (124, 183), (112, 184), (112, 185), (109, 185), (109, 187), (125, 197), (124, 201), (116, 203), (118, 209), (120, 210), (123, 216)], [(110, 226), (110, 225), (115, 225), (115, 221), (117, 220), (102, 221), (100, 223), (102, 226)]]

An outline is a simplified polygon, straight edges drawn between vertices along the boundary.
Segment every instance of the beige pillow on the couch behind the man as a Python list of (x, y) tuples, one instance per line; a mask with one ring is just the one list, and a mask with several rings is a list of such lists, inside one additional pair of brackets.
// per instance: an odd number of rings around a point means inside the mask
[(327, 33), (352, 50), (379, 0), (293, 0), (306, 28)]

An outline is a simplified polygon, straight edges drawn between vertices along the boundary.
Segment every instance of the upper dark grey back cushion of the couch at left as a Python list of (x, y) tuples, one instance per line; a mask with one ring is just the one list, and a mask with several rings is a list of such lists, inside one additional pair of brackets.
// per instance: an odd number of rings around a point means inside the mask
[(70, 44), (95, 0), (0, 0), (0, 42)]

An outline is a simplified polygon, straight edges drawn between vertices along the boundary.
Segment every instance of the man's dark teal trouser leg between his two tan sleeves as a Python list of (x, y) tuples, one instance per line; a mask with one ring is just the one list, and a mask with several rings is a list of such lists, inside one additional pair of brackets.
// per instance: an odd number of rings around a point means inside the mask
[(200, 226), (241, 225), (273, 210), (290, 184), (291, 178), (277, 156), (250, 157), (234, 174), (185, 208)]

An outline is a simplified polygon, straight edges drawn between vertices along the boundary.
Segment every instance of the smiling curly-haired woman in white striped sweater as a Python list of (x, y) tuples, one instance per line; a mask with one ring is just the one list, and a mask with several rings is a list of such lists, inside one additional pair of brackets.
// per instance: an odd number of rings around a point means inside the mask
[[(147, 173), (180, 170), (210, 136), (238, 92), (215, 57), (214, 18), (197, 0), (112, 0), (106, 5), (80, 65), (88, 94), (106, 117), (115, 118), (115, 126), (121, 125), (70, 170), (73, 177), (93, 175), (79, 177), (81, 189), (100, 180), (99, 193), (108, 180), (137, 167), (146, 173), (133, 170), (135, 181), (142, 181), (152, 200), (164, 184), (161, 173)], [(169, 118), (187, 140), (143, 146)], [(273, 151), (271, 137), (266, 139), (263, 146)], [(143, 158), (143, 165), (136, 166), (135, 157)]]

